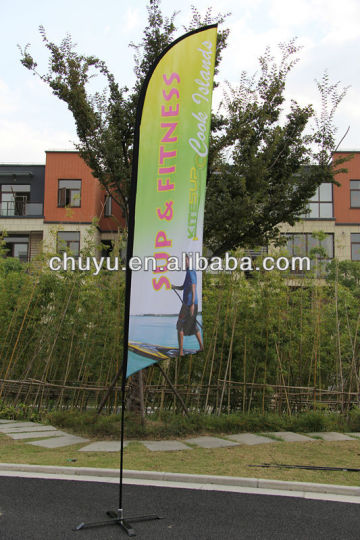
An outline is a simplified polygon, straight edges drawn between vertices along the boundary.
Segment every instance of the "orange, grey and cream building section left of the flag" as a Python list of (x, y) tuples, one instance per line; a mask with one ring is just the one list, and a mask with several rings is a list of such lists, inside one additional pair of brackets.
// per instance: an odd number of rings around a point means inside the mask
[(77, 256), (90, 243), (106, 251), (123, 228), (121, 208), (78, 152), (47, 151), (45, 165), (0, 165), (7, 256), (30, 261), (42, 248)]

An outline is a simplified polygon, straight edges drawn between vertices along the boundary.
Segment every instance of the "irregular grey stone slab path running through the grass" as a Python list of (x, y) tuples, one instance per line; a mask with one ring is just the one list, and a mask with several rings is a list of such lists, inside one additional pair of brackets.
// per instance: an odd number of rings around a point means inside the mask
[[(23, 440), (26, 444), (42, 448), (61, 448), (79, 443), (89, 443), (89, 439), (69, 435), (53, 426), (0, 419), (0, 433), (14, 440)], [(238, 433), (223, 437), (195, 437), (185, 440), (135, 441), (143, 444), (151, 452), (191, 450), (193, 448), (226, 448), (239, 445), (276, 444), (285, 442), (353, 441), (360, 439), (360, 433), (319, 432), (306, 435), (290, 431), (271, 433)], [(132, 441), (126, 441), (125, 446)], [(120, 441), (96, 441), (79, 448), (80, 452), (118, 452)]]

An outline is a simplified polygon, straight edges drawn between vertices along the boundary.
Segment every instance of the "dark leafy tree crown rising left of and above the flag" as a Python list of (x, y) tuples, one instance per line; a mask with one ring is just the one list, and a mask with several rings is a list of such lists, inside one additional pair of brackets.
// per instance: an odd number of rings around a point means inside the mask
[[(137, 76), (131, 90), (116, 82), (103, 60), (77, 53), (76, 45), (69, 34), (57, 45), (49, 41), (44, 27), (40, 26), (40, 34), (50, 55), (49, 69), (44, 74), (38, 71), (37, 63), (30, 54), (29, 44), (23, 49), (19, 47), (22, 65), (45, 82), (55, 96), (67, 104), (74, 116), (79, 138), (76, 148), (91, 168), (94, 177), (118, 202), (126, 223), (138, 96), (148, 70), (162, 50), (173, 41), (176, 31), (176, 13), (171, 17), (164, 17), (160, 10), (160, 0), (150, 0), (147, 10), (148, 24), (144, 29), (144, 37), (139, 45), (130, 44), (135, 49)], [(199, 12), (193, 8), (188, 30), (213, 22), (221, 23), (224, 17), (221, 14), (213, 16), (209, 9), (202, 19)], [(219, 64), (221, 51), (226, 46), (227, 35), (228, 30), (219, 33), (216, 65)], [(99, 75), (105, 79), (106, 86), (102, 92), (92, 92), (92, 79)]]

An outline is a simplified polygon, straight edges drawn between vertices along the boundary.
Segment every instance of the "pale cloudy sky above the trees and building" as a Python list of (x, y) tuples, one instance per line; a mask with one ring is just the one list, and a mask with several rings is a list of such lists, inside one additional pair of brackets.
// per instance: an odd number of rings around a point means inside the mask
[[(77, 50), (105, 60), (119, 84), (131, 86), (134, 51), (147, 20), (147, 0), (1, 0), (0, 33), (0, 163), (45, 163), (46, 150), (73, 149), (76, 131), (65, 103), (20, 63), (18, 45), (30, 51), (41, 72), (48, 56), (39, 34), (59, 43), (67, 33)], [(178, 35), (200, 12), (231, 14), (228, 47), (223, 55), (214, 103), (221, 101), (226, 82), (232, 85), (242, 71), (253, 74), (258, 57), (270, 46), (297, 37), (302, 45), (299, 63), (291, 72), (286, 96), (319, 108), (315, 79), (327, 70), (332, 82), (350, 86), (336, 114), (337, 139), (350, 130), (340, 149), (360, 150), (360, 2), (357, 0), (163, 0), (162, 11), (178, 11)], [(180, 6), (180, 7), (179, 7)]]

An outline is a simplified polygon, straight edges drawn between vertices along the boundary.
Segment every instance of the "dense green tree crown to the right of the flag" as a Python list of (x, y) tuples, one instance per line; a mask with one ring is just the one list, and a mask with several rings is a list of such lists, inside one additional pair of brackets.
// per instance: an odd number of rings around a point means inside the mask
[[(209, 170), (205, 206), (205, 238), (214, 255), (281, 241), (278, 225), (294, 225), (316, 188), (335, 182), (345, 161), (333, 162), (332, 152), (334, 114), (347, 89), (331, 85), (325, 73), (317, 83), (320, 115), (292, 101), (282, 120), (286, 80), (299, 47), (294, 39), (279, 47), (278, 64), (267, 48), (258, 74), (243, 72), (237, 87), (228, 85), (226, 124), (217, 137), (220, 153)], [(310, 120), (315, 125), (309, 133)]]

